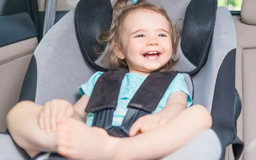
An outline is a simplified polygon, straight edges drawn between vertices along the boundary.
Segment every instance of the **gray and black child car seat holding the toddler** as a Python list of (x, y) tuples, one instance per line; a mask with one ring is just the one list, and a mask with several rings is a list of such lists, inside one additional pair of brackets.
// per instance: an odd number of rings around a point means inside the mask
[[(211, 129), (163, 160), (219, 160), (229, 144), (237, 160), (243, 149), (236, 136), (241, 101), (235, 89), (236, 34), (229, 10), (217, 7), (217, 0), (157, 2), (164, 6), (172, 22), (183, 26), (176, 70), (186, 75), (194, 104), (205, 106), (213, 119)], [(110, 0), (80, 0), (76, 10), (66, 14), (39, 43), (28, 66), (20, 101), (31, 100), (39, 105), (53, 98), (73, 104), (78, 101), (78, 87), (97, 70), (105, 70), (101, 57), (93, 51), (95, 47), (107, 47), (99, 44), (97, 37), (110, 28), (111, 22)], [(8, 133), (0, 134), (0, 142), (1, 158), (29, 159)], [(42, 159), (42, 154), (35, 159)], [(62, 158), (52, 154), (46, 159)]]

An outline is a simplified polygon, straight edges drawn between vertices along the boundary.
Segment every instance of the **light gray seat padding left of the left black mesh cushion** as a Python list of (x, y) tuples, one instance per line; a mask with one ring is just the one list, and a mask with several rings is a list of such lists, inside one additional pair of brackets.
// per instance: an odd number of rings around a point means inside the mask
[(78, 87), (95, 73), (79, 49), (74, 14), (72, 10), (56, 23), (34, 52), (38, 71), (35, 102), (40, 105), (53, 98), (74, 104), (81, 97)]

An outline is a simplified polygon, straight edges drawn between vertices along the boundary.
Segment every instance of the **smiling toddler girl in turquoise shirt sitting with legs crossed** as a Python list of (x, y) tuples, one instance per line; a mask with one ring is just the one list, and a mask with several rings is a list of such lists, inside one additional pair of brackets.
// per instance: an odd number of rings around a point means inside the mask
[[(108, 67), (129, 69), (122, 81), (112, 126), (121, 125), (129, 101), (150, 73), (173, 70), (176, 63), (177, 36), (166, 11), (144, 0), (124, 5), (127, 1), (114, 4), (119, 16), (110, 31), (101, 36), (109, 44), (104, 54)], [(79, 87), (82, 97), (74, 106), (65, 100), (52, 100), (44, 106), (18, 103), (7, 115), (14, 141), (31, 157), (45, 151), (79, 160), (160, 159), (212, 126), (206, 108), (191, 106), (184, 76), (177, 74), (156, 110), (139, 118), (128, 138), (112, 137), (102, 128), (91, 127), (94, 114), (85, 113), (101, 74), (96, 72)]]

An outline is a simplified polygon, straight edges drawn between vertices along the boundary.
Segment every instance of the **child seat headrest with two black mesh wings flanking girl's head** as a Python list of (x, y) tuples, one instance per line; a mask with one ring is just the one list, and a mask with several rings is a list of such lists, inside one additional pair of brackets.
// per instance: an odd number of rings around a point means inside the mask
[[(152, 0), (151, 0), (152, 1)], [(154, 0), (156, 1), (156, 0)], [(195, 75), (206, 63), (213, 37), (217, 0), (157, 0), (164, 6), (173, 23), (182, 18), (183, 27), (178, 48), (177, 70)], [(112, 23), (110, 0), (80, 0), (76, 7), (75, 27), (82, 54), (98, 71), (107, 69), (95, 50), (104, 51), (106, 44), (98, 42), (102, 31)]]

